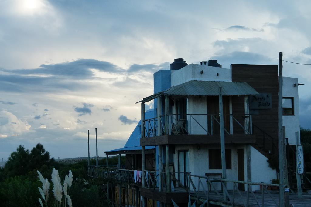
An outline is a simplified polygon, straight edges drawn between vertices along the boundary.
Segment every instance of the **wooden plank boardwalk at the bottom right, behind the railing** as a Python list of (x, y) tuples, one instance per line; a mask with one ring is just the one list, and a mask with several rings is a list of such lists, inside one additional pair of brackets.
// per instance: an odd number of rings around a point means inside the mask
[[(231, 199), (232, 199), (232, 191), (229, 192), (230, 196), (231, 196)], [(241, 191), (241, 195), (242, 195), (242, 198), (241, 196), (239, 196), (239, 194), (236, 192), (235, 193), (235, 196), (234, 196), (234, 204), (235, 206), (244, 206), (243, 204), (243, 201), (244, 203), (246, 204), (246, 200), (247, 200), (247, 193), (246, 191)], [(260, 206), (262, 206), (262, 194), (261, 193), (254, 193), (258, 203)], [(191, 196), (191, 199), (192, 200), (197, 200), (197, 194), (195, 194), (195, 192), (190, 192), (190, 196)], [(222, 194), (221, 194), (222, 196)], [(259, 206), (256, 202), (256, 199), (254, 198), (253, 194), (249, 193), (249, 201), (248, 201), (248, 206), (251, 207), (251, 206)], [(272, 198), (274, 199), (274, 202), (273, 199), (267, 194), (265, 193), (264, 194), (264, 204), (263, 206), (279, 206), (279, 194), (278, 193), (271, 193), (271, 196)], [(207, 197), (205, 196), (204, 192), (200, 191), (200, 194), (199, 194), (199, 200), (202, 202), (202, 201), (205, 201), (207, 199)], [(230, 201), (228, 202), (224, 202), (220, 199), (220, 197), (216, 194), (216, 193), (210, 193), (209, 194), (209, 200), (211, 202), (214, 202), (214, 203), (222, 203), (222, 206), (232, 206), (232, 203)], [(298, 195), (297, 194), (290, 194), (290, 204), (293, 204), (294, 207), (311, 207), (311, 194), (303, 194), (302, 195), (302, 198), (298, 198)]]

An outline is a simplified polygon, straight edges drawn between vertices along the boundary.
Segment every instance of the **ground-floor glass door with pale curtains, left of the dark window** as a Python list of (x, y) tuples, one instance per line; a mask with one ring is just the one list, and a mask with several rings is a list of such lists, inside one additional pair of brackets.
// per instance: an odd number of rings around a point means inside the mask
[(187, 174), (184, 172), (189, 172), (189, 151), (178, 151), (178, 179), (183, 185), (187, 185)]

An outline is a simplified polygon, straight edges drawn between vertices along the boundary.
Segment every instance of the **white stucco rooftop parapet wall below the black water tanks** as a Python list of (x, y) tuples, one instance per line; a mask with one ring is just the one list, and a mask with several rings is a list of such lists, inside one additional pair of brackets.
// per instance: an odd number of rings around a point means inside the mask
[[(203, 73), (201, 74), (201, 71)], [(218, 73), (218, 76), (217, 76)], [(189, 80), (232, 81), (231, 69), (212, 67), (208, 65), (190, 64), (180, 70), (172, 70), (171, 86), (176, 86)]]

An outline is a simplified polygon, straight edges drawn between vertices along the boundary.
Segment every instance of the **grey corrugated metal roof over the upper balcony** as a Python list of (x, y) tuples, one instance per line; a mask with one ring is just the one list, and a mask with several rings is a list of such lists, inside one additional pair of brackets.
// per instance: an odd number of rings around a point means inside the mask
[(218, 96), (219, 87), (223, 96), (258, 95), (259, 93), (247, 83), (191, 80), (173, 86), (163, 92), (164, 95)]

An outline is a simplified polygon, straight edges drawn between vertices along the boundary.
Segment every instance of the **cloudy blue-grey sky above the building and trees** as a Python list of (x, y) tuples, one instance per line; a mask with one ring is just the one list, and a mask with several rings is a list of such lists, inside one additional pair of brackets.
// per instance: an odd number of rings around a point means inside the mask
[[(0, 159), (41, 142), (53, 157), (123, 147), (153, 73), (188, 63), (311, 63), (310, 1), (0, 0)], [(299, 78), (311, 128), (311, 65)], [(149, 106), (148, 106), (149, 107)]]

